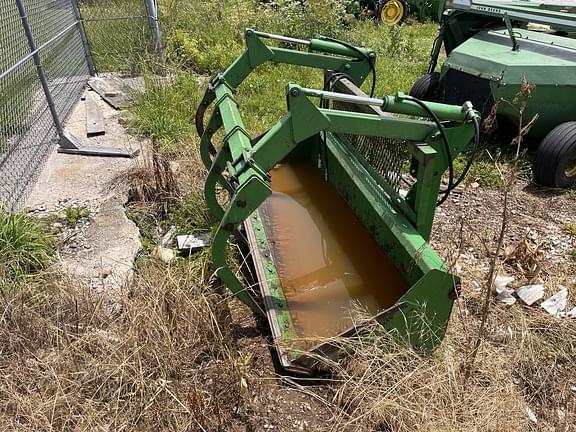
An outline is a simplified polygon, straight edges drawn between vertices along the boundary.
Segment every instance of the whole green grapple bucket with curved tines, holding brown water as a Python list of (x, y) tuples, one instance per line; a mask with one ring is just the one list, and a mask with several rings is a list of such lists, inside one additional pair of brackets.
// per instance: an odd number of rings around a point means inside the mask
[[(289, 371), (309, 372), (318, 355), (339, 355), (336, 340), (375, 323), (432, 350), (457, 279), (427, 241), (457, 182), (452, 160), (478, 139), (477, 112), (363, 93), (376, 61), (363, 47), (251, 29), (245, 39), (196, 113), (205, 200), (220, 221), (211, 246), (219, 279), (267, 316)], [(250, 134), (236, 95), (266, 63), (318, 69), (325, 86), (287, 83), (286, 113)], [(254, 284), (234, 271), (233, 239), (248, 248)]]

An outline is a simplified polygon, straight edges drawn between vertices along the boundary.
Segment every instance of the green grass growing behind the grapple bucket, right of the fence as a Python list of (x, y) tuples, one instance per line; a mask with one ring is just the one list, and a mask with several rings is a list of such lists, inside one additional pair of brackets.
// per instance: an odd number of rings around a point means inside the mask
[[(408, 92), (426, 70), (436, 35), (434, 24), (413, 23), (398, 29), (358, 21), (344, 13), (344, 1), (318, 0), (302, 9), (297, 2), (277, 2), (276, 9), (256, 0), (160, 4), (170, 71), (169, 81), (147, 79), (147, 92), (133, 109), (133, 125), (159, 141), (164, 152), (197, 143), (193, 116), (205, 83), (194, 76), (225, 69), (244, 49), (246, 27), (309, 38), (325, 34), (374, 49), (376, 95)], [(246, 129), (258, 134), (286, 112), (285, 86), (295, 82), (320, 88), (322, 71), (288, 65), (265, 65), (241, 86), (237, 98)], [(364, 90), (368, 91), (367, 80)], [(209, 113), (207, 114), (209, 115)]]

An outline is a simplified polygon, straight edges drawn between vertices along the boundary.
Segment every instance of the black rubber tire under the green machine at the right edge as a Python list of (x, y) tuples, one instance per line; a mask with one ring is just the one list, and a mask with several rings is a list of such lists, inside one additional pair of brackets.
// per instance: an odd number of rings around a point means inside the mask
[(534, 178), (543, 186), (568, 188), (576, 185), (576, 173), (566, 168), (576, 162), (576, 121), (562, 123), (542, 140), (534, 158)]

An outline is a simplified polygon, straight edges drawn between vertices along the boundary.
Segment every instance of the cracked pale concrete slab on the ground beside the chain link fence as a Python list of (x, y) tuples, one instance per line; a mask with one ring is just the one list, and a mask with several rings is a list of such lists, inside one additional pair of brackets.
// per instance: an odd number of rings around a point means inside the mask
[[(78, 103), (66, 124), (82, 145), (140, 149), (134, 159), (50, 155), (26, 207), (38, 216), (56, 215), (55, 223), (64, 241), (59, 266), (95, 289), (116, 289), (132, 277), (134, 259), (140, 250), (138, 228), (125, 212), (128, 190), (113, 188), (114, 179), (142, 163), (150, 143), (134, 137), (122, 125), (123, 113), (113, 109), (91, 92), (101, 110), (106, 135), (86, 137), (86, 108)], [(90, 216), (70, 226), (65, 220), (67, 207), (89, 209)]]

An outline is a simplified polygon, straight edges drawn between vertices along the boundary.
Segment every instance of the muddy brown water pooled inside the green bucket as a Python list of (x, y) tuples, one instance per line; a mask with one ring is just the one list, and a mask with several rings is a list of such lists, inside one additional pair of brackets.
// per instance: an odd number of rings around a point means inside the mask
[(272, 190), (271, 244), (300, 338), (336, 336), (407, 291), (400, 272), (312, 162), (277, 166)]

